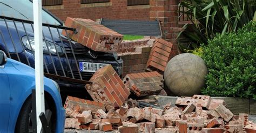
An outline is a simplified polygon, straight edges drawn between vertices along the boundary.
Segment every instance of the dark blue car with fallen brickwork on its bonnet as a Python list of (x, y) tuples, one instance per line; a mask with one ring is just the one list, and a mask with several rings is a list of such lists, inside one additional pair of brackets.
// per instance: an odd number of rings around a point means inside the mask
[[(0, 0), (0, 50), (34, 68), (32, 11), (29, 0)], [(93, 51), (62, 34), (76, 29), (65, 27), (44, 9), (42, 17), (45, 76), (56, 80), (61, 89), (84, 88), (86, 80), (107, 64), (122, 75), (123, 60), (116, 53)]]

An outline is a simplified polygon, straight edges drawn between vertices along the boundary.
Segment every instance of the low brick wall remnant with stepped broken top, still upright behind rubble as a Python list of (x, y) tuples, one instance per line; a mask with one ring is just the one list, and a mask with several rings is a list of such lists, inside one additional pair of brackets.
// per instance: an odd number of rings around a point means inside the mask
[(138, 73), (145, 70), (151, 47), (136, 47), (137, 52), (118, 54), (124, 61), (123, 77), (128, 73)]

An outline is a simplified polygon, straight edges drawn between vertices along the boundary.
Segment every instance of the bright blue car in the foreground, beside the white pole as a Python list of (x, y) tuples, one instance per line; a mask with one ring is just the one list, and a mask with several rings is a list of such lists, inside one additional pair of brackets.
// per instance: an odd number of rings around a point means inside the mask
[[(35, 89), (35, 70), (7, 58), (0, 50), (0, 132), (31, 132), (31, 91)], [(44, 78), (45, 109), (50, 109), (52, 132), (63, 132), (65, 110), (58, 84)]]

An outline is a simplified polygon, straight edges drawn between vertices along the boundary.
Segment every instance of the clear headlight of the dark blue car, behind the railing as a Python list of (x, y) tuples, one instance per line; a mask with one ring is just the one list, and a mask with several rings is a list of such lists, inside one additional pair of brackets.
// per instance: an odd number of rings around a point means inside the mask
[[(35, 39), (32, 36), (23, 36), (22, 42), (27, 49), (35, 51)], [(43, 40), (43, 51), (44, 53), (49, 53), (50, 51), (51, 54), (56, 55), (57, 51), (58, 53), (63, 53), (64, 50), (62, 47), (54, 45), (52, 42)]]

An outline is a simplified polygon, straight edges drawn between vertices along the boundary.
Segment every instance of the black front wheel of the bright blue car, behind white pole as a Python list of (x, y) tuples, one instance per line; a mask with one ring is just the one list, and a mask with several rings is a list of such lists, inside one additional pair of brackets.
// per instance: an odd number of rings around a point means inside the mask
[[(45, 102), (45, 110), (49, 109), (47, 102)], [(21, 112), (19, 113), (18, 120), (16, 123), (15, 132), (17, 133), (26, 133), (26, 132), (33, 132), (32, 130), (32, 120), (30, 114), (32, 113), (32, 104), (31, 98), (27, 99), (22, 106)], [(51, 120), (50, 120), (50, 127), (51, 127)]]

